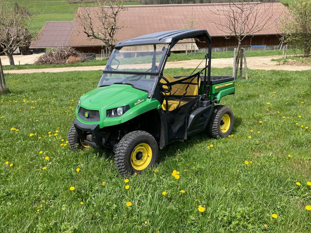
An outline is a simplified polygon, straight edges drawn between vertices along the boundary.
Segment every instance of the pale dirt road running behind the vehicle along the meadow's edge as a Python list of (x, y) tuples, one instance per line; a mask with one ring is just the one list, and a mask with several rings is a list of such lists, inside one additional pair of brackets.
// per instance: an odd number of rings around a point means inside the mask
[[(286, 71), (303, 71), (311, 70), (311, 66), (295, 66), (280, 65), (279, 62), (271, 62), (272, 58), (280, 58), (281, 56), (269, 57), (247, 57), (247, 67), (253, 70), (286, 70)], [(179, 62), (167, 62), (165, 68), (195, 68), (200, 64), (200, 60), (188, 60)], [(204, 67), (202, 62), (199, 67)], [(224, 68), (233, 67), (233, 58), (219, 58), (211, 60), (211, 67)], [(36, 73), (36, 72), (65, 72), (65, 71), (91, 71), (103, 70), (104, 66), (81, 66), (81, 67), (64, 67), (64, 68), (46, 68), (46, 69), (29, 69), (29, 70), (12, 70), (4, 71), (4, 73), (20, 74), (20, 73)]]

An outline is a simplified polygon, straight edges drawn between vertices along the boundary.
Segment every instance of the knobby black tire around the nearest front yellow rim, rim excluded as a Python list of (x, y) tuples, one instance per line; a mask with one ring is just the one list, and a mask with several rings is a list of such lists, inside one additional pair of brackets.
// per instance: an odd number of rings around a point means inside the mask
[(159, 147), (156, 139), (145, 131), (132, 131), (120, 140), (114, 156), (116, 168), (122, 176), (132, 175), (135, 172), (142, 173), (142, 171), (145, 170), (136, 170), (131, 164), (133, 149), (141, 143), (148, 144), (152, 151), (151, 161), (145, 169), (152, 167), (156, 163), (159, 154)]

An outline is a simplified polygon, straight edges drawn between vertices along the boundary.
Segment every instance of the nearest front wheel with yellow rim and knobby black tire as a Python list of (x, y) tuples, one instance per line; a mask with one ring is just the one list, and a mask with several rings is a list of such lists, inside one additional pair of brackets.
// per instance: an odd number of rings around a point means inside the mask
[(120, 140), (114, 162), (121, 175), (132, 175), (152, 167), (158, 159), (158, 153), (156, 139), (145, 131), (137, 130), (128, 133)]

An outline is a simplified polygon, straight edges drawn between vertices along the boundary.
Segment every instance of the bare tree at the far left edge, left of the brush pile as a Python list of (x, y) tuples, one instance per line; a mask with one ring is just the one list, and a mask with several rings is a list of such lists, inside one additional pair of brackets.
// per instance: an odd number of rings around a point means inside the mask
[(0, 0), (0, 54), (7, 55), (11, 66), (14, 51), (30, 44), (29, 26), (35, 15)]

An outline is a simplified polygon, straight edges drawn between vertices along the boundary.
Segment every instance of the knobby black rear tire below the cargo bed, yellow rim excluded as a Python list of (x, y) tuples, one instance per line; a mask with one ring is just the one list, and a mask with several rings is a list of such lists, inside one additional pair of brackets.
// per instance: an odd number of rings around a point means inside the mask
[[(220, 122), (221, 122), (221, 118), (225, 114), (228, 114), (230, 117), (230, 126), (229, 126), (229, 129), (227, 130), (227, 132), (223, 133), (220, 130)], [(216, 105), (214, 107), (214, 111), (211, 115), (211, 119), (208, 122), (207, 127), (206, 127), (207, 134), (211, 138), (228, 137), (228, 135), (231, 134), (233, 124), (234, 124), (234, 116), (233, 116), (233, 112), (232, 112), (231, 108), (228, 106), (225, 106), (225, 105)]]

